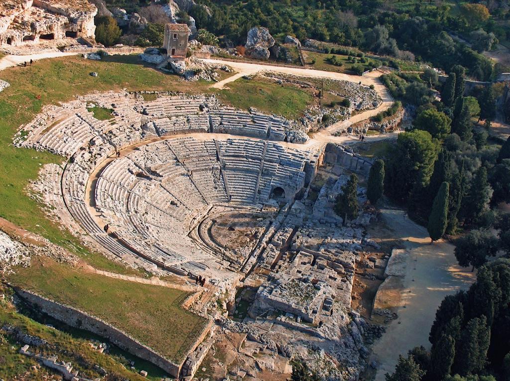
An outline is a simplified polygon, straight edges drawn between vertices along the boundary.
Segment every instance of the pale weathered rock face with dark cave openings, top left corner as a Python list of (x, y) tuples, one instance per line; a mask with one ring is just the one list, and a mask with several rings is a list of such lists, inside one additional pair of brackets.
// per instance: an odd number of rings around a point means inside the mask
[(0, 46), (94, 38), (96, 14), (97, 8), (86, 0), (5, 0), (0, 4)]

